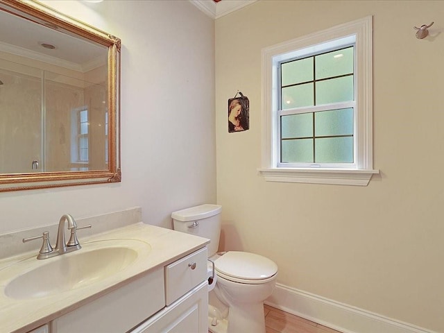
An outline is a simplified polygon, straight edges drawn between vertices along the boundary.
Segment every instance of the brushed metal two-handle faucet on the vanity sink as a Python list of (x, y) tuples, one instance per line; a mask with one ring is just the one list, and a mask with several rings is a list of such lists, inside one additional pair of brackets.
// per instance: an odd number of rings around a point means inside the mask
[[(69, 237), (68, 243), (65, 241), (65, 221), (68, 221), (68, 230), (71, 230), (71, 237)], [(49, 232), (43, 232), (42, 236), (24, 238), (23, 242), (32, 241), (33, 239), (43, 238), (42, 248), (40, 248), (37, 259), (46, 259), (55, 257), (56, 255), (63, 255), (64, 253), (72, 252), (82, 248), (77, 239), (77, 230), (91, 228), (91, 225), (85, 225), (84, 227), (77, 228), (76, 220), (69, 214), (65, 214), (60, 218), (58, 222), (56, 248), (52, 248), (49, 243)]]

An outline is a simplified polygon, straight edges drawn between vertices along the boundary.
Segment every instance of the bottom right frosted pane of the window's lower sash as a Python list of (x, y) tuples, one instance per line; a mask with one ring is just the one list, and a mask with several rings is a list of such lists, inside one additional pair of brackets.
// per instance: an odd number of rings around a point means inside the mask
[(316, 163), (352, 163), (353, 137), (315, 139)]

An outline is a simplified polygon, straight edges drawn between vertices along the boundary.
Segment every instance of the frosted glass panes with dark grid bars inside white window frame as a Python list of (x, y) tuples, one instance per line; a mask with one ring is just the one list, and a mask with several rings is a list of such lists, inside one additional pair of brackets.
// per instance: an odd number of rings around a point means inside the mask
[(341, 45), (278, 63), (278, 166), (355, 161), (354, 48)]

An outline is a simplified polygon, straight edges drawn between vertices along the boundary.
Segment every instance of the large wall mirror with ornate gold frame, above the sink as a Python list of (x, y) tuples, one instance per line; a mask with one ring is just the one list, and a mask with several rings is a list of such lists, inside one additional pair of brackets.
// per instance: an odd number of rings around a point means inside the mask
[(0, 191), (120, 182), (119, 38), (0, 0)]

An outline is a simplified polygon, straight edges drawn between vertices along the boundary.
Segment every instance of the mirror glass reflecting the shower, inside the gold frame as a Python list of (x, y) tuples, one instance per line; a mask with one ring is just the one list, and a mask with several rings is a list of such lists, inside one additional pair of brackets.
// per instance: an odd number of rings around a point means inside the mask
[(0, 31), (0, 173), (108, 169), (108, 48), (7, 12)]

